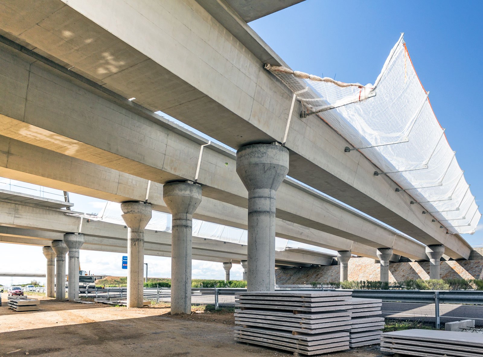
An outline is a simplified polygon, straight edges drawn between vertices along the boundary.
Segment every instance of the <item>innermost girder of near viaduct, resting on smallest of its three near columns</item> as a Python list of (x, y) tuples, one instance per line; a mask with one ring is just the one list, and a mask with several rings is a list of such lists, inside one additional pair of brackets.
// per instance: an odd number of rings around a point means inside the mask
[[(2, 155), (8, 157), (8, 161), (1, 160)], [(69, 167), (70, 170), (58, 170), (59, 166)], [(144, 200), (148, 197), (153, 209), (168, 212), (162, 200), (161, 184), (4, 136), (0, 136), (0, 175), (117, 202)], [(245, 208), (208, 197), (203, 198), (194, 217), (236, 228), (247, 228)], [(376, 258), (374, 247), (280, 218), (276, 218), (276, 233), (281, 238), (328, 249), (352, 250), (354, 254)], [(402, 255), (409, 253), (412, 257), (416, 253), (414, 259), (425, 258), (422, 252), (419, 254), (411, 247), (401, 247), (401, 250)]]

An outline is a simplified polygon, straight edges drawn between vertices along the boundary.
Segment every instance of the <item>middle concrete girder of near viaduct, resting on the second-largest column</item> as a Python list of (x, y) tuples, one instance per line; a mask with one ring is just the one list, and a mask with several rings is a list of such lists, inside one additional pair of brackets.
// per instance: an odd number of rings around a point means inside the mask
[[(11, 59), (11, 58), (10, 58)], [(35, 67), (35, 66), (34, 66)], [(32, 70), (33, 67), (29, 68), (29, 71), (34, 71), (35, 75), (28, 76), (28, 86), (29, 88), (32, 88), (30, 90), (35, 92), (35, 95), (29, 96), (29, 99), (32, 101), (28, 101), (28, 105), (30, 103), (34, 103), (36, 100), (42, 102), (42, 108), (38, 107), (38, 104), (35, 104), (35, 110), (32, 108), (31, 110), (34, 110), (35, 114), (32, 114), (32, 123), (34, 122), (37, 125), (41, 125), (41, 127), (50, 127), (51, 129), (55, 130), (55, 126), (61, 125), (60, 122), (57, 124), (54, 123), (54, 117), (57, 118), (57, 120), (62, 119), (62, 122), (64, 122), (62, 125), (66, 124), (65, 120), (68, 120), (68, 116), (71, 115), (69, 113), (72, 113), (71, 111), (68, 113), (62, 112), (62, 113), (55, 113), (52, 112), (52, 109), (54, 108), (54, 105), (52, 105), (52, 108), (48, 113), (43, 113), (44, 112), (44, 105), (45, 103), (52, 102), (52, 96), (57, 96), (56, 100), (60, 100), (59, 97), (63, 96), (65, 93), (69, 93), (68, 96), (74, 96), (76, 100), (71, 98), (71, 103), (64, 103), (64, 106), (72, 106), (72, 103), (75, 103), (75, 108), (76, 112), (80, 112), (80, 108), (85, 105), (86, 102), (90, 102), (91, 100), (87, 100), (89, 96), (94, 96), (92, 93), (88, 92), (82, 92), (79, 94), (78, 90), (74, 90), (72, 86), (74, 86), (71, 83), (65, 82), (59, 77), (54, 76), (52, 73), (43, 71), (40, 68), (35, 68)], [(36, 84), (32, 84), (30, 86), (30, 81), (32, 82), (38, 82)], [(41, 90), (42, 88), (42, 90)], [(47, 89), (44, 89), (47, 88)], [(66, 88), (70, 88), (71, 90), (66, 90)], [(47, 90), (47, 92), (44, 92), (44, 90)], [(19, 94), (19, 93), (17, 93)], [(49, 98), (45, 98), (45, 95), (47, 95)], [(77, 98), (79, 95), (81, 95), (80, 98)], [(40, 97), (38, 97), (40, 96)], [(37, 97), (37, 99), (35, 99)], [(93, 98), (92, 98), (93, 100)], [(96, 100), (99, 102), (99, 98)], [(113, 112), (113, 105), (112, 103), (109, 103), (107, 101), (100, 100), (100, 103), (105, 104), (106, 107), (104, 108), (108, 112)], [(18, 104), (18, 103), (17, 103)], [(40, 104), (40, 103), (39, 103)], [(98, 107), (102, 107), (101, 104), (98, 105)], [(102, 108), (100, 108), (102, 109)], [(56, 110), (60, 110), (59, 107), (57, 107)], [(98, 108), (99, 110), (99, 108)], [(122, 111), (122, 110), (121, 110)], [(30, 113), (30, 110), (28, 110)], [(41, 127), (37, 127), (32, 124), (27, 124), (25, 122), (25, 117), (24, 121), (19, 121), (16, 120), (12, 117), (7, 117), (7, 116), (2, 116), (2, 122), (3, 122), (3, 128), (4, 130), (1, 131), (1, 133), (10, 135), (14, 138), (26, 141), (26, 142), (32, 142), (32, 137), (35, 138), (33, 143), (35, 143), (38, 146), (43, 146), (48, 149), (53, 149), (56, 150), (60, 153), (64, 153), (66, 155), (70, 155), (73, 157), (77, 158), (83, 158), (85, 160), (90, 160), (92, 164), (99, 164), (102, 166), (107, 166), (110, 167), (111, 169), (120, 169), (124, 171), (129, 171), (131, 173), (135, 173), (138, 176), (143, 176), (145, 179), (156, 179), (157, 181), (167, 181), (167, 180), (172, 180), (172, 179), (177, 179), (180, 178), (177, 174), (171, 173), (171, 171), (176, 171), (180, 175), (185, 175), (188, 178), (194, 179), (194, 174), (196, 171), (196, 164), (198, 163), (198, 158), (197, 155), (199, 155), (199, 145), (200, 143), (196, 143), (193, 141), (189, 141), (186, 139), (184, 136), (177, 135), (175, 133), (170, 133), (169, 130), (166, 131), (163, 127), (161, 126), (156, 126), (153, 127), (155, 124), (149, 120), (146, 120), (145, 118), (142, 118), (140, 116), (136, 116), (134, 114), (129, 114), (127, 111), (122, 111), (123, 115), (131, 115), (130, 120), (132, 121), (133, 119), (138, 119), (140, 121), (139, 125), (150, 131), (153, 132), (157, 129), (159, 134), (156, 135), (151, 135), (154, 136), (154, 138), (151, 139), (151, 144), (149, 145), (149, 149), (147, 146), (143, 146), (146, 148), (148, 151), (144, 153), (143, 157), (149, 157), (149, 160), (152, 160), (153, 166), (146, 166), (145, 163), (141, 163), (138, 161), (133, 161), (133, 159), (128, 159), (127, 157), (120, 156), (118, 154), (113, 154), (109, 151), (106, 151), (105, 149), (99, 149), (94, 146), (90, 146), (88, 144), (85, 144), (83, 142), (77, 141), (75, 139), (71, 139), (69, 137), (57, 134), (53, 131), (49, 131), (47, 129), (43, 129)], [(43, 113), (43, 114), (41, 114)], [(89, 108), (89, 113), (90, 116), (92, 116), (92, 109)], [(118, 112), (115, 112), (118, 113)], [(95, 123), (97, 124), (89, 124), (86, 126), (89, 129), (87, 131), (93, 130), (92, 125), (99, 125), (102, 121), (105, 121), (106, 118), (104, 118), (103, 115), (100, 115), (100, 112), (98, 112), (99, 116), (97, 116), (97, 120)], [(80, 113), (76, 114), (80, 115)], [(30, 115), (28, 115), (30, 116)], [(89, 116), (89, 115), (87, 115)], [(112, 116), (110, 116), (108, 122), (104, 124), (100, 124), (99, 127), (96, 128), (102, 132), (102, 135), (95, 134), (96, 139), (94, 142), (101, 142), (103, 141), (105, 137), (109, 136), (109, 132), (105, 131), (106, 127), (109, 128), (117, 128), (118, 130), (118, 137), (129, 137), (131, 140), (135, 142), (139, 142), (141, 140), (140, 137), (140, 129), (138, 128), (137, 130), (131, 130), (127, 129), (127, 127), (120, 125), (121, 122), (117, 123), (115, 125), (115, 120), (116, 116), (114, 113)], [(78, 118), (71, 118), (74, 121), (78, 121)], [(126, 120), (126, 118), (120, 118), (122, 120)], [(41, 124), (40, 122), (43, 124)], [(69, 128), (69, 125), (64, 126), (64, 128)], [(76, 126), (77, 127), (77, 126)], [(123, 130), (127, 129), (129, 132), (123, 132)], [(69, 131), (69, 129), (66, 129)], [(164, 130), (164, 131), (163, 131)], [(79, 129), (75, 129), (74, 131), (79, 131)], [(112, 132), (112, 130), (110, 130)], [(72, 134), (72, 135), (71, 135)], [(71, 136), (76, 136), (77, 134), (71, 133)], [(92, 133), (91, 133), (92, 134)], [(84, 134), (80, 134), (82, 136), (82, 140), (84, 141), (89, 141), (92, 140), (90, 138), (91, 134), (85, 132)], [(149, 140), (149, 139), (145, 139)], [(111, 142), (115, 142), (113, 139)], [(92, 142), (94, 144), (94, 142)], [(203, 143), (203, 141), (201, 141)], [(107, 142), (106, 142), (107, 144)], [(108, 146), (112, 146), (112, 143), (107, 144)], [(161, 145), (161, 146), (160, 146)], [(102, 145), (99, 145), (102, 146)], [(129, 156), (130, 153), (132, 153), (132, 150), (126, 150), (126, 147), (128, 146), (127, 143), (119, 143), (119, 146), (116, 146), (117, 149), (122, 148), (121, 151), (124, 150), (124, 153), (122, 155)], [(152, 147), (156, 149), (152, 149)], [(173, 150), (174, 147), (177, 147), (177, 150)], [(110, 149), (113, 151), (113, 149)], [(138, 150), (139, 151), (139, 150)], [(141, 150), (142, 151), (142, 150)], [(165, 162), (162, 167), (158, 167), (158, 153), (164, 153), (164, 158), (163, 162)], [(140, 159), (139, 157), (137, 159)], [(213, 147), (213, 150), (210, 148), (204, 148), (203, 149), (203, 155), (201, 156), (200, 160), (200, 170), (199, 170), (199, 182), (206, 182), (209, 185), (213, 186), (204, 186), (204, 194), (208, 195), (208, 197), (211, 197), (215, 200), (221, 200), (221, 201), (230, 201), (231, 203), (235, 203), (235, 205), (238, 205), (239, 207), (246, 207), (246, 202), (247, 202), (247, 193), (246, 190), (244, 189), (243, 185), (241, 184), (240, 179), (234, 172), (234, 157), (233, 154), (226, 151), (222, 150), (219, 147)], [(183, 165), (181, 163), (184, 163)], [(187, 163), (187, 164), (186, 164)], [(223, 163), (223, 164), (222, 164)], [(228, 163), (228, 165), (225, 165)], [(231, 163), (231, 165), (230, 165)], [(210, 169), (205, 169), (205, 166), (208, 166)], [(182, 170), (183, 172), (180, 172), (179, 167), (183, 167)], [(127, 169), (128, 168), (128, 169)], [(187, 170), (187, 171), (186, 171)], [(45, 169), (44, 169), (45, 171)], [(210, 174), (209, 171), (214, 171), (215, 174)], [(100, 172), (98, 172), (100, 173)], [(155, 175), (156, 174), (156, 175)], [(213, 180), (213, 177), (217, 177), (217, 180)], [(223, 179), (220, 180), (219, 177), (222, 177)], [(123, 177), (125, 178), (125, 177)], [(139, 179), (138, 179), (139, 180)], [(128, 190), (130, 187), (130, 182), (125, 181), (125, 188)], [(297, 187), (299, 186), (299, 187)], [(124, 188), (124, 187), (121, 187)], [(217, 187), (217, 188), (214, 188)], [(372, 248), (377, 248), (381, 246), (387, 246), (387, 245), (395, 245), (395, 248), (398, 249), (398, 240), (402, 240), (403, 243), (405, 244), (412, 244), (414, 249), (408, 249), (405, 252), (416, 252), (416, 255), (419, 254), (419, 258), (424, 257), (424, 247), (422, 245), (417, 246), (414, 242), (409, 241), (405, 238), (397, 238), (394, 240), (393, 233), (388, 232), (386, 229), (382, 228), (381, 226), (378, 226), (376, 228), (371, 228), (373, 226), (372, 222), (369, 222), (367, 219), (361, 216), (356, 216), (354, 217), (354, 214), (349, 213), (349, 216), (351, 219), (341, 219), (339, 214), (342, 215), (347, 215), (348, 212), (345, 212), (345, 208), (341, 207), (336, 207), (334, 208), (334, 204), (331, 202), (328, 202), (327, 199), (324, 199), (321, 195), (318, 195), (314, 192), (309, 192), (309, 190), (301, 189), (302, 186), (294, 183), (294, 182), (284, 182), (279, 190), (279, 201), (282, 202), (278, 204), (279, 209), (277, 210), (277, 214), (279, 216), (283, 216), (285, 220), (291, 221), (294, 223), (300, 222), (304, 225), (309, 226), (310, 228), (315, 228), (318, 230), (323, 230), (329, 234), (337, 234), (338, 236), (342, 236), (347, 239), (351, 239), (353, 241), (356, 241), (358, 243), (363, 243), (365, 245), (369, 245)], [(146, 187), (147, 191), (147, 187)], [(301, 192), (300, 192), (301, 191)], [(151, 194), (150, 192), (145, 192), (145, 196), (143, 196), (143, 199), (147, 196), (148, 199), (150, 199), (149, 195)], [(157, 192), (159, 194), (159, 192)], [(302, 197), (300, 197), (302, 195)], [(151, 196), (153, 197), (153, 196)], [(296, 204), (295, 202), (299, 202), (300, 198), (305, 202), (304, 205), (301, 204)], [(307, 204), (308, 203), (308, 204)], [(287, 209), (287, 207), (289, 207)], [(290, 209), (290, 207), (293, 207)], [(334, 211), (336, 211), (336, 214), (334, 214)], [(309, 218), (306, 218), (309, 217)], [(319, 217), (324, 217), (324, 221), (327, 221), (324, 224), (320, 223), (320, 218)], [(340, 222), (344, 222), (343, 227), (341, 226)], [(352, 223), (352, 225), (350, 224)], [(342, 248), (341, 248), (342, 249)], [(347, 249), (347, 248), (345, 248)], [(406, 253), (407, 254), (407, 253)]]

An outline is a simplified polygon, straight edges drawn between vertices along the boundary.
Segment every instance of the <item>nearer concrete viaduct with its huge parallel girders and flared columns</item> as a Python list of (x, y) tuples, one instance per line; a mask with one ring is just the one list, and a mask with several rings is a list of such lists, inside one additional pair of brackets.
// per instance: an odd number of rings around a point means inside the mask
[[(191, 252), (193, 216), (248, 228), (250, 290), (274, 287), (275, 234), (339, 251), (341, 278), (351, 253), (377, 256), (381, 268), (393, 254), (429, 259), (432, 277), (443, 251), (469, 257), (461, 236), (446, 234), (390, 178), (374, 177), (361, 154), (344, 153), (348, 143), (338, 133), (315, 116), (298, 117), (299, 103), (263, 70), (264, 63), (287, 65), (246, 24), (276, 11), (268, 2), (0, 6), (7, 14), (0, 24), (0, 174), (124, 202), (128, 255), (141, 268), (151, 209), (173, 214), (172, 271), (179, 276), (172, 313), (189, 307), (191, 254), (183, 252)], [(142, 269), (128, 275), (128, 306), (140, 306)]]

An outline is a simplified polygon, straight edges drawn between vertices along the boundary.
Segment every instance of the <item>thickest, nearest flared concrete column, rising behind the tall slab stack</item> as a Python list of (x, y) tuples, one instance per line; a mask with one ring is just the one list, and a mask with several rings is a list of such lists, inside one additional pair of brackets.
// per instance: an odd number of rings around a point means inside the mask
[(248, 291), (275, 290), (275, 200), (288, 173), (288, 150), (253, 144), (237, 151), (237, 173), (248, 191)]

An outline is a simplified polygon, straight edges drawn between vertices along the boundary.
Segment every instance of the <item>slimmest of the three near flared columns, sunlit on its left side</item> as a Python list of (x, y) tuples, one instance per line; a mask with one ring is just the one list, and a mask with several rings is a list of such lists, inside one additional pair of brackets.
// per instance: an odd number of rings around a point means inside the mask
[(142, 307), (144, 271), (144, 228), (151, 219), (151, 205), (121, 203), (121, 215), (128, 226), (128, 307)]

